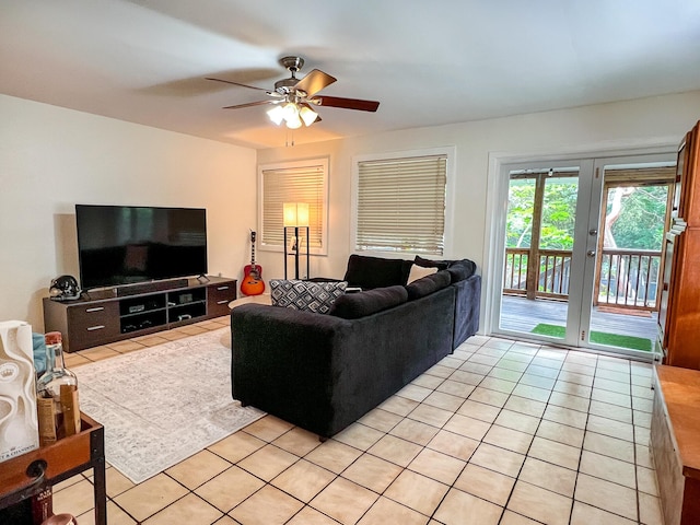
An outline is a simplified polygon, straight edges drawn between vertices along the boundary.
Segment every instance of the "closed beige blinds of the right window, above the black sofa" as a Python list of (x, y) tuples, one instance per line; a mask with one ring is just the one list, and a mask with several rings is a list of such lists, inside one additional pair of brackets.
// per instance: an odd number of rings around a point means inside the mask
[(442, 255), (446, 155), (358, 163), (357, 250)]

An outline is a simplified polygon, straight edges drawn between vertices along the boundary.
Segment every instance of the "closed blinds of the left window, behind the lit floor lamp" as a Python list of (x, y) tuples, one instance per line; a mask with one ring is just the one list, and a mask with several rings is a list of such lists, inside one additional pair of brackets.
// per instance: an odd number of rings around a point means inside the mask
[(270, 164), (259, 167), (260, 248), (282, 249), (284, 202), (308, 203), (308, 247), (325, 255), (328, 210), (328, 160)]

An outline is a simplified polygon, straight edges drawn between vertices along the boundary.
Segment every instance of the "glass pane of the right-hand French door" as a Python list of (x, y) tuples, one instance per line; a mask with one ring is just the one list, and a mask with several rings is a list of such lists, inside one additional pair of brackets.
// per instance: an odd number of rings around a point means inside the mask
[[(606, 166), (588, 340), (650, 352), (673, 167)], [(633, 173), (632, 173), (633, 172)]]

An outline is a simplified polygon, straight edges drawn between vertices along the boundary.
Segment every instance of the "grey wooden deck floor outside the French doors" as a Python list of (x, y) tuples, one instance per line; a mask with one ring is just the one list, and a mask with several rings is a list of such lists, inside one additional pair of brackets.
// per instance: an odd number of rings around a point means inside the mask
[[(656, 339), (656, 317), (600, 312), (595, 307), (591, 319), (591, 329), (608, 334), (635, 336)], [(502, 329), (529, 332), (539, 323), (564, 326), (567, 303), (504, 295), (501, 302)]]

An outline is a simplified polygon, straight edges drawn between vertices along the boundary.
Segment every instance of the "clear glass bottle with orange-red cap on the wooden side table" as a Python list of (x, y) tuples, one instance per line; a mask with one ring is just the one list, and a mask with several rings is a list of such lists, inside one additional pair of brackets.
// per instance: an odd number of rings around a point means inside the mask
[(36, 382), (39, 444), (80, 432), (78, 377), (63, 363), (60, 331), (49, 331), (46, 340), (46, 372)]

